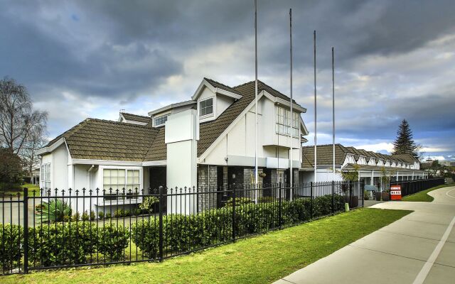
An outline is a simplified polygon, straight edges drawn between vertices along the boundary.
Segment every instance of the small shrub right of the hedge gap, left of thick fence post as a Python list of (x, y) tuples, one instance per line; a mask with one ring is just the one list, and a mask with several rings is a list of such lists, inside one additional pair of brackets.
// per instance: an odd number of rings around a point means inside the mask
[(159, 253), (159, 222), (151, 218), (134, 222), (132, 240), (147, 258), (157, 258)]

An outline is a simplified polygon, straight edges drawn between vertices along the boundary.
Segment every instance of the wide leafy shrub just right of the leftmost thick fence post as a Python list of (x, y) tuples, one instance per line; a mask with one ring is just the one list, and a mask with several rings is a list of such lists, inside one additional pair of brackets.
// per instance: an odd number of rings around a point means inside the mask
[(28, 236), (28, 258), (41, 266), (87, 263), (98, 241), (90, 222), (42, 224), (30, 228)]

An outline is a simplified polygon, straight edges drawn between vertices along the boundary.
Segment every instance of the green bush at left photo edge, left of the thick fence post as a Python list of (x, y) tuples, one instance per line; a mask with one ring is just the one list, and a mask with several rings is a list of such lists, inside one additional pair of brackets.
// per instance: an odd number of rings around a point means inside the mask
[(23, 253), (23, 229), (14, 224), (0, 225), (0, 262), (3, 271), (16, 268)]

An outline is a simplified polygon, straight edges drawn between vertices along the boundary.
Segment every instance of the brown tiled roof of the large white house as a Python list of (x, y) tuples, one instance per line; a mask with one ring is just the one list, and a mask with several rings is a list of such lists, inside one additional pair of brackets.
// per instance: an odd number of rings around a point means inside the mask
[[(255, 81), (231, 88), (210, 79), (205, 80), (210, 82), (210, 84), (216, 84), (216, 87), (220, 89), (228, 88), (229, 92), (236, 92), (242, 97), (233, 102), (228, 109), (225, 109), (217, 119), (200, 124), (198, 157), (255, 99)], [(258, 94), (263, 90), (274, 97), (289, 100), (286, 95), (258, 81)], [(166, 160), (165, 127), (152, 127), (149, 116), (127, 113), (122, 113), (122, 115), (127, 120), (146, 122), (147, 124), (140, 125), (102, 119), (85, 119), (85, 121), (50, 141), (47, 146), (52, 145), (63, 137), (68, 144), (72, 158), (144, 162)]]

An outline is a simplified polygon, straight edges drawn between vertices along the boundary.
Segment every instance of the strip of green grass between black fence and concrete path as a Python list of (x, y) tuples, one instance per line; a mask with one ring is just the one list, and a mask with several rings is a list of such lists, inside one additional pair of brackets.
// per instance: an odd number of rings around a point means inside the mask
[[(409, 214), (358, 209), (163, 263), (0, 277), (1, 283), (271, 283)], [(348, 260), (346, 260), (348, 261)]]

